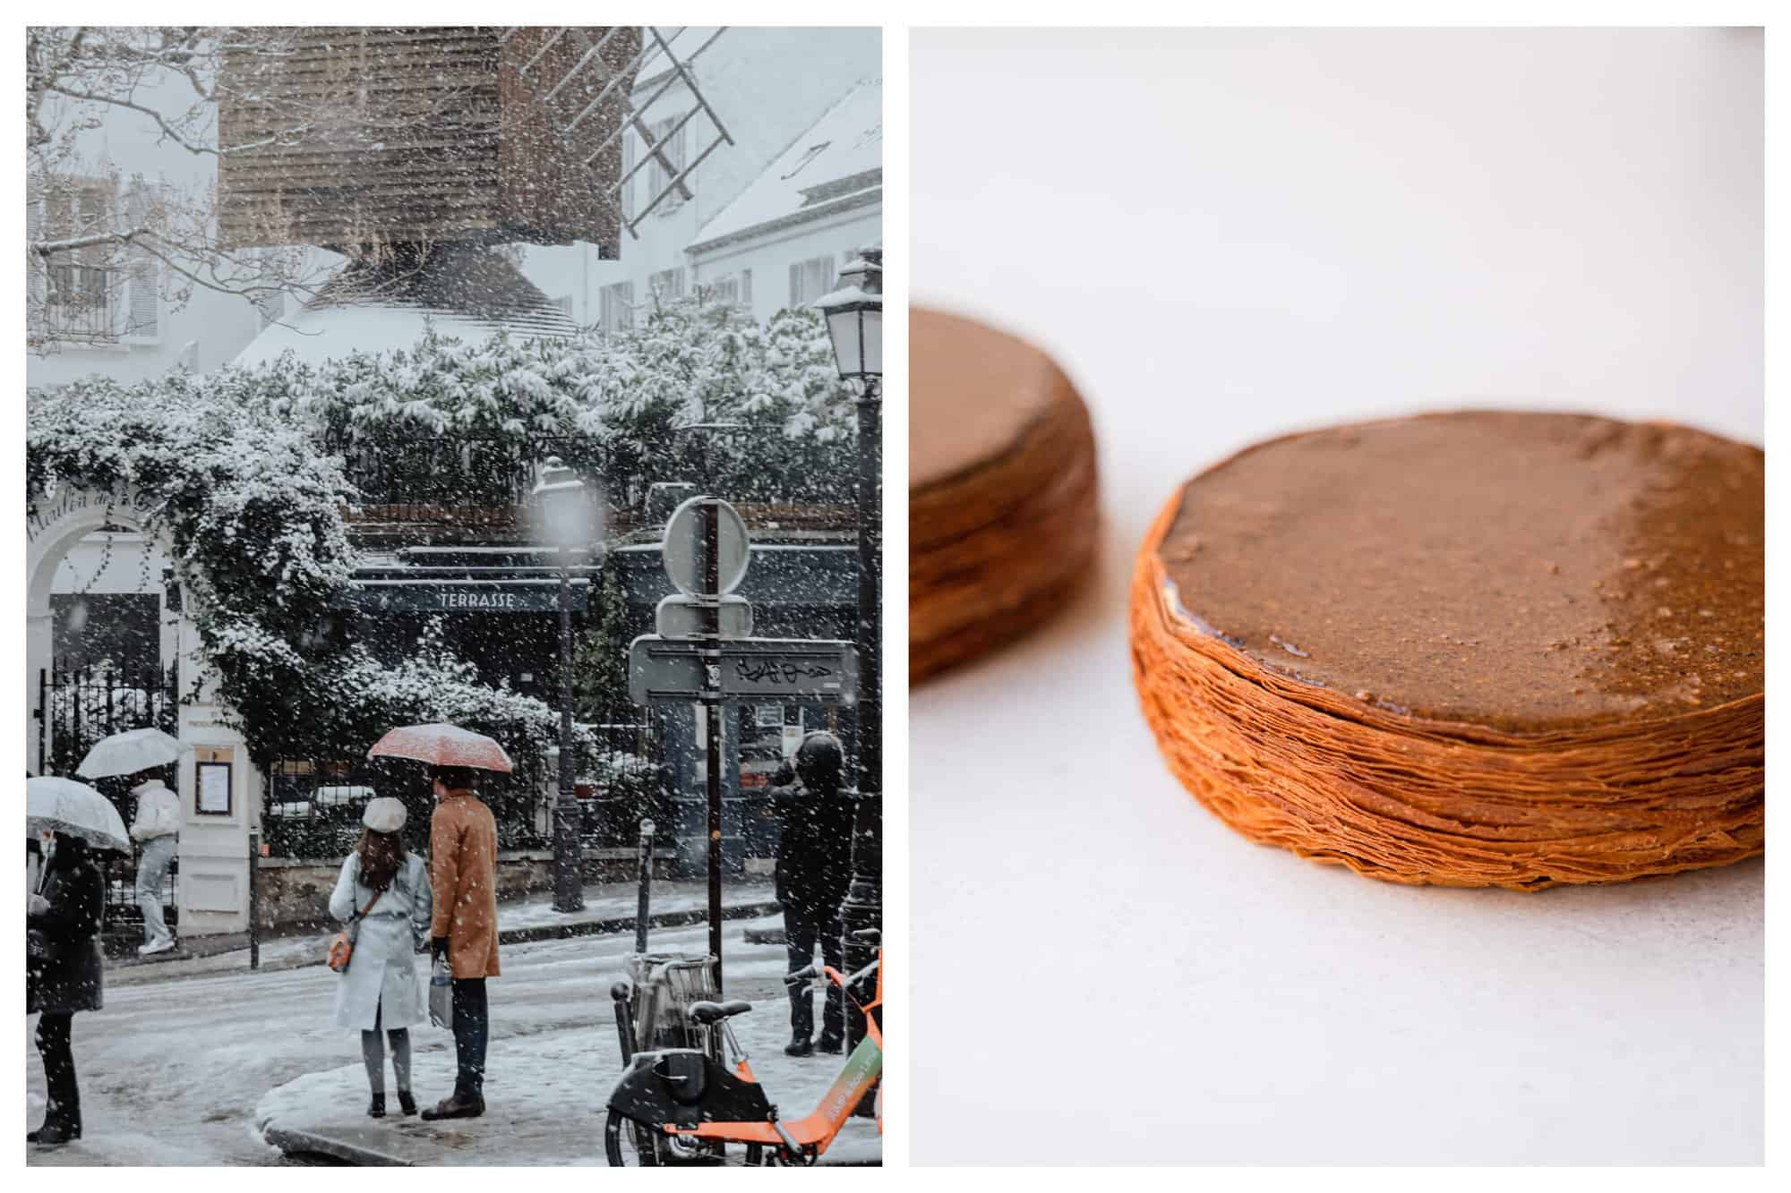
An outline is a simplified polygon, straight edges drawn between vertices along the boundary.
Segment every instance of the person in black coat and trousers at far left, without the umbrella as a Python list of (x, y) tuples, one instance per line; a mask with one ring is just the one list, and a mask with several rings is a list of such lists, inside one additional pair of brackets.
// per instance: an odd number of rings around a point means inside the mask
[(38, 1014), (38, 1053), (48, 1086), (43, 1127), (27, 1143), (68, 1143), (81, 1137), (81, 1089), (70, 1025), (77, 1010), (104, 1003), (100, 921), (106, 885), (88, 853), (88, 842), (64, 833), (43, 871), (43, 887), (30, 896), (25, 960), (25, 1014)]

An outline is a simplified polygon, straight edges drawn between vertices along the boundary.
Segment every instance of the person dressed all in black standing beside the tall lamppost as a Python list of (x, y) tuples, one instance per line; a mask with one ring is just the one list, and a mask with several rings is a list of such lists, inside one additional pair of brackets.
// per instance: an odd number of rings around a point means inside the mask
[[(795, 752), (797, 785), (770, 792), (772, 808), (783, 828), (777, 840), (777, 901), (784, 910), (784, 940), (790, 949), (790, 971), (804, 969), (815, 957), (815, 946), (826, 964), (845, 966), (840, 940), (840, 903), (853, 881), (853, 819), (854, 801), (844, 794), (845, 752), (831, 733), (811, 733)], [(845, 1048), (845, 992), (827, 987), (822, 1014), (820, 1041), (815, 1030), (815, 1007), (808, 985), (790, 991), (790, 1046), (792, 1057)]]

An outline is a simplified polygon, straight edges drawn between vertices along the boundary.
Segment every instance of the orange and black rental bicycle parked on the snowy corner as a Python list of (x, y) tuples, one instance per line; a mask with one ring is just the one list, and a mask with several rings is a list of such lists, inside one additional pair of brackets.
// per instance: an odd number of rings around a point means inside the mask
[[(874, 939), (874, 931), (863, 930), (865, 939)], [(845, 1057), (820, 1105), (804, 1118), (784, 1121), (765, 1096), (747, 1050), (727, 1023), (752, 1010), (752, 1003), (691, 1003), (690, 1017), (722, 1034), (727, 1062), (702, 1048), (636, 1053), (609, 1094), (609, 1125), (604, 1129), (609, 1163), (618, 1168), (716, 1164), (725, 1163), (729, 1143), (745, 1145), (747, 1164), (808, 1166), (818, 1161), (883, 1073), (883, 949), (878, 949), (878, 960), (853, 974), (842, 974), (833, 966), (810, 966), (784, 980), (799, 983), (815, 976), (838, 985), (865, 1014), (865, 1037)], [(860, 998), (867, 987), (869, 1001)], [(881, 1098), (876, 1109), (881, 1132)]]

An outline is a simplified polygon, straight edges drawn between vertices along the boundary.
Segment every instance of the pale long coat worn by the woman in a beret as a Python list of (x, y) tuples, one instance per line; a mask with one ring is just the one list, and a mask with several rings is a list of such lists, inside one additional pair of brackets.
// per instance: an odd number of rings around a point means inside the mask
[[(360, 885), (360, 854), (351, 853), (330, 896), (330, 914), (346, 923), (369, 899), (373, 888)], [(360, 921), (347, 971), (337, 974), (337, 1026), (371, 1032), (378, 1014), (380, 1030), (396, 1032), (428, 1019), (417, 949), (430, 942), (433, 908), (428, 867), (417, 854), (407, 854), (398, 878)]]

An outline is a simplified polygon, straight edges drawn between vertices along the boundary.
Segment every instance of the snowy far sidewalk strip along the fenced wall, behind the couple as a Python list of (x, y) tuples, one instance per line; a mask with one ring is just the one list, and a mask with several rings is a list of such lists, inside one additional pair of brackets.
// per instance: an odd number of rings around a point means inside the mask
[[(584, 888), (584, 910), (555, 912), (552, 892), (498, 905), (498, 940), (523, 944), (561, 937), (634, 931), (634, 912), (639, 888), (629, 883), (591, 883)], [(722, 887), (722, 910), (729, 919), (767, 915), (777, 897), (770, 881), (736, 880)], [(691, 924), (706, 917), (709, 888), (702, 881), (656, 881), (652, 890), (650, 923), (656, 928)], [(321, 966), (331, 931), (313, 931), (278, 937), (261, 942), (261, 973), (278, 973), (299, 966)], [(231, 971), (249, 971), (247, 937), (229, 937), (233, 948), (208, 949), (206, 937), (183, 942), (192, 957), (170, 960), (107, 958), (107, 985), (136, 985), (183, 976), (213, 976)]]

